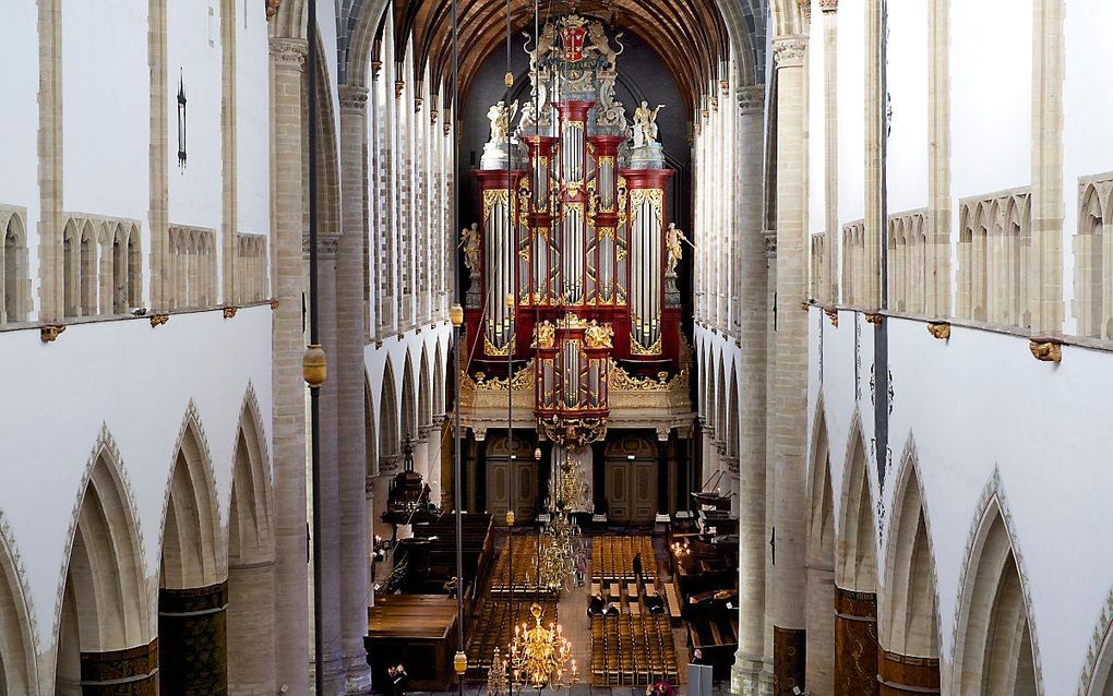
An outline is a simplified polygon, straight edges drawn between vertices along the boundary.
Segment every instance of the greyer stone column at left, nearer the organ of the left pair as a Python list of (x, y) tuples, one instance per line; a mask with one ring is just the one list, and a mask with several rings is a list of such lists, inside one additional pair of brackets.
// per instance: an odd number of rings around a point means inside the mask
[(338, 420), (338, 500), (341, 631), (345, 694), (371, 693), (367, 635), (367, 442), (364, 403), (363, 275), (367, 237), (367, 89), (339, 88), (341, 231), (336, 261), (336, 379)]

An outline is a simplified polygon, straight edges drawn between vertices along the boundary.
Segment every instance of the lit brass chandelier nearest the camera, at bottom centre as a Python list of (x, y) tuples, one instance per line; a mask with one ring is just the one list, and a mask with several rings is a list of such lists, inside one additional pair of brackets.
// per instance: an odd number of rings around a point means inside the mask
[(562, 688), (575, 680), (575, 658), (572, 643), (564, 637), (563, 628), (555, 621), (541, 624), (541, 605), (530, 607), (534, 625), (522, 621), (514, 626), (510, 644), (510, 670), (514, 684), (536, 689)]

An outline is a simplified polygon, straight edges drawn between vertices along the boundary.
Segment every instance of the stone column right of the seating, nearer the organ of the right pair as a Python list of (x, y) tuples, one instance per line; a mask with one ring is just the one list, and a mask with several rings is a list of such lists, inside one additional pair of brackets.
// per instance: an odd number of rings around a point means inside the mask
[[(739, 187), (739, 334), (742, 352), (741, 430), (738, 481), (738, 653), (730, 673), (736, 696), (769, 694), (772, 673), (765, 669), (766, 618), (766, 389), (769, 324), (769, 271), (761, 216), (765, 209), (765, 86), (738, 90), (739, 116), (735, 173)], [(771, 665), (770, 665), (771, 667)]]

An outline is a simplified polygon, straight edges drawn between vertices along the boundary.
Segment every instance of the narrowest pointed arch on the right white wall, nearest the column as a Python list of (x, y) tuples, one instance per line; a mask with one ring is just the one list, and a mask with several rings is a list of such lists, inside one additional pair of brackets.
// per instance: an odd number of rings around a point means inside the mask
[(835, 500), (831, 492), (830, 444), (823, 398), (816, 404), (808, 474), (807, 658), (808, 692), (831, 694), (835, 679)]

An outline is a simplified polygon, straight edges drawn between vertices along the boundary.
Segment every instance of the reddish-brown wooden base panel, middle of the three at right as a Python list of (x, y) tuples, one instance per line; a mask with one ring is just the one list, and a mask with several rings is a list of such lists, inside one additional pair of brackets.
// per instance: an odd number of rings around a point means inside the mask
[(835, 696), (870, 696), (877, 682), (877, 595), (835, 588)]

